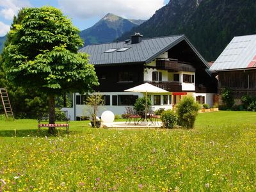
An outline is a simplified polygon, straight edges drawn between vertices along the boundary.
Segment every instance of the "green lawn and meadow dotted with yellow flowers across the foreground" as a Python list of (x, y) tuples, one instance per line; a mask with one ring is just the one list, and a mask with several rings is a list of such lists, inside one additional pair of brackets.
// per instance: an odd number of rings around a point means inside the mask
[(87, 125), (49, 137), (0, 120), (0, 191), (255, 191), (255, 112), (200, 113), (193, 130)]

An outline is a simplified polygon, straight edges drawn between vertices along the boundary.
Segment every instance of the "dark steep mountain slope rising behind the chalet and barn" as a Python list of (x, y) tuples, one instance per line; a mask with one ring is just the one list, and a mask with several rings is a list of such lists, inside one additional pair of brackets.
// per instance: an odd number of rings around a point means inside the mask
[(170, 0), (149, 20), (133, 28), (144, 38), (185, 34), (209, 61), (216, 60), (234, 36), (256, 33), (255, 0)]

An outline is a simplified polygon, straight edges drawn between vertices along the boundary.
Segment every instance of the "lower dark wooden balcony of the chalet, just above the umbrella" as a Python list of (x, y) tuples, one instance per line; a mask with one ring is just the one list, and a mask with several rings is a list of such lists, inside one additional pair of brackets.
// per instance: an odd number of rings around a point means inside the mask
[(179, 82), (171, 82), (171, 81), (145, 81), (145, 83), (150, 83), (154, 86), (162, 88), (168, 92), (182, 92), (182, 86)]

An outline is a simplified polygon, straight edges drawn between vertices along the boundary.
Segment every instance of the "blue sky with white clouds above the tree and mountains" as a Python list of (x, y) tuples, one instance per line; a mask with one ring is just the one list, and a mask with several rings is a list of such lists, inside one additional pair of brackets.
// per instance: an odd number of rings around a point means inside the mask
[(60, 8), (72, 19), (77, 28), (83, 30), (93, 26), (107, 13), (127, 19), (149, 19), (169, 0), (0, 0), (0, 36), (10, 29), (13, 15), (22, 7), (44, 5)]

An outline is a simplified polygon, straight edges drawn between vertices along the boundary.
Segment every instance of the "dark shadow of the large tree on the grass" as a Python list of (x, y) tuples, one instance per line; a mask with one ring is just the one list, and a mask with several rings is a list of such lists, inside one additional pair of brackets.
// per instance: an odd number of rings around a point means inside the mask
[(49, 134), (48, 129), (18, 129), (18, 130), (0, 130), (0, 138), (24, 138), (24, 137), (41, 137), (44, 138), (45, 136), (66, 136), (66, 135), (73, 135), (77, 134), (79, 131), (69, 131), (67, 133), (66, 130), (57, 130), (56, 134)]

